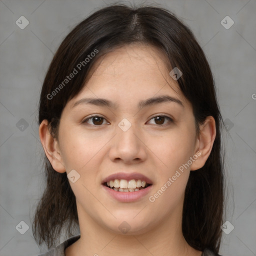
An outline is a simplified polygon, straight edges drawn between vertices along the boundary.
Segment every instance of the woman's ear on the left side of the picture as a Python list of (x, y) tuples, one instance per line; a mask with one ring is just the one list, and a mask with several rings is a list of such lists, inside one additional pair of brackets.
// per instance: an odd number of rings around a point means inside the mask
[(65, 167), (59, 150), (57, 139), (50, 131), (48, 121), (44, 119), (39, 125), (39, 137), (46, 157), (51, 163), (53, 169), (57, 172), (65, 172)]

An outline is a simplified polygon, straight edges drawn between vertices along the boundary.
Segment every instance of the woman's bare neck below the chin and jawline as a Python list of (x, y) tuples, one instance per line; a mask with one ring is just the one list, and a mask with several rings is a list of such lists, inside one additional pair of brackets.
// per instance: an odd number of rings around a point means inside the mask
[[(79, 212), (80, 205), (77, 204)], [(182, 214), (178, 213), (179, 216)], [(200, 256), (201, 252), (190, 247), (182, 235), (181, 217), (169, 217), (155, 227), (139, 234), (117, 234), (105, 229), (80, 211), (80, 238), (66, 248), (66, 256)]]

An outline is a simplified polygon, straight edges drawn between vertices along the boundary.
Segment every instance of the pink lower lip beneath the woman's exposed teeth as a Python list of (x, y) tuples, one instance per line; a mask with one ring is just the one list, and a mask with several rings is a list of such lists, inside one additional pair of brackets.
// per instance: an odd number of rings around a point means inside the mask
[(109, 188), (105, 185), (102, 185), (104, 189), (112, 196), (114, 199), (120, 202), (133, 202), (139, 200), (141, 197), (149, 193), (152, 185), (147, 186), (146, 188), (140, 189), (134, 192), (119, 192), (115, 191), (112, 188)]

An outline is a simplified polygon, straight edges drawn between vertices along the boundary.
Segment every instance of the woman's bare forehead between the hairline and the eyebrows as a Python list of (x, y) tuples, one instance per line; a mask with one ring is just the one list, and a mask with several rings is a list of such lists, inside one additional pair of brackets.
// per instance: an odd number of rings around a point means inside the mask
[(95, 63), (84, 88), (71, 101), (86, 95), (128, 103), (166, 93), (186, 101), (166, 62), (166, 56), (153, 46), (129, 44), (114, 49)]

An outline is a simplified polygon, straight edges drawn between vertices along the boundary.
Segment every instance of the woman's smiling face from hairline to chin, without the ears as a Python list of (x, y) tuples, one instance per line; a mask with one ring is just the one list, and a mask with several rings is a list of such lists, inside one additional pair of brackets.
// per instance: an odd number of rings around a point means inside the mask
[(58, 148), (80, 175), (69, 180), (79, 222), (138, 234), (181, 219), (195, 123), (163, 59), (145, 45), (116, 49), (64, 107)]

